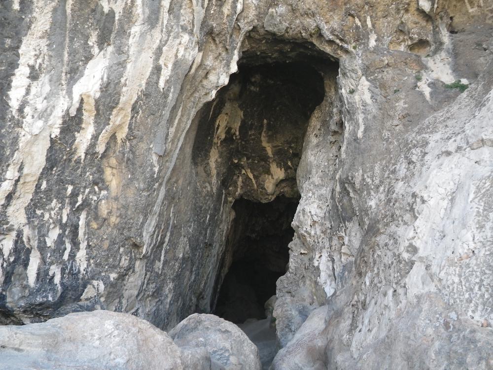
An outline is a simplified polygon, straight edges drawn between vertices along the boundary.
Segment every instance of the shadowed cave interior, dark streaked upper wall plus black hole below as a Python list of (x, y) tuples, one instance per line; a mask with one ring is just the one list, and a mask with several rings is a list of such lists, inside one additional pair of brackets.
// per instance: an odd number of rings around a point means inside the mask
[[(264, 304), (286, 272), (300, 197), (296, 170), (308, 121), (325, 94), (322, 74), (311, 64), (244, 60), (211, 102), (198, 127), (206, 135), (195, 143), (196, 153), (206, 153), (204, 173), (220, 174), (233, 202), (211, 311), (237, 324), (266, 318)], [(271, 182), (276, 171), (281, 178)]]

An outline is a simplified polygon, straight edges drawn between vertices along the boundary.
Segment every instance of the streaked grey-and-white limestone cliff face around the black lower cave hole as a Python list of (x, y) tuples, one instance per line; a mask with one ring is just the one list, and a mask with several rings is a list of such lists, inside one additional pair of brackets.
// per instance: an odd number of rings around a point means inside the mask
[(3, 1), (1, 322), (210, 312), (233, 202), (283, 194), (274, 366), (492, 367), (492, 9)]

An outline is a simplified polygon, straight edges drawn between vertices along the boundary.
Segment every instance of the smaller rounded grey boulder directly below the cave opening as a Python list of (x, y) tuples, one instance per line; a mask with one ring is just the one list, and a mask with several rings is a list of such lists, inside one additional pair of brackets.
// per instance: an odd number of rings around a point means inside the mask
[(193, 314), (170, 331), (176, 345), (203, 349), (212, 369), (261, 369), (257, 347), (233, 323), (214, 315)]

